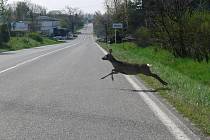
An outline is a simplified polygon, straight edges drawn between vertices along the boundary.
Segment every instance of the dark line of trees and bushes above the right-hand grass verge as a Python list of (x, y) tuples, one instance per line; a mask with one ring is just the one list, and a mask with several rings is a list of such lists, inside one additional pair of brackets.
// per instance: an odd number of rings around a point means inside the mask
[(94, 31), (110, 40), (112, 23), (123, 23), (119, 35), (133, 36), (140, 46), (167, 49), (176, 57), (209, 60), (210, 1), (105, 0), (106, 12), (94, 15)]

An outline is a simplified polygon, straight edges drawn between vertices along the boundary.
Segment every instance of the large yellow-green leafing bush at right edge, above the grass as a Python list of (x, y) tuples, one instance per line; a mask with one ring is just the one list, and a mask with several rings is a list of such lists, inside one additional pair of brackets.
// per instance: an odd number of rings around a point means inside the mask
[(189, 57), (201, 62), (209, 60), (210, 13), (208, 11), (186, 12), (179, 20), (167, 16), (157, 17), (164, 21), (153, 29), (163, 47), (176, 57)]

